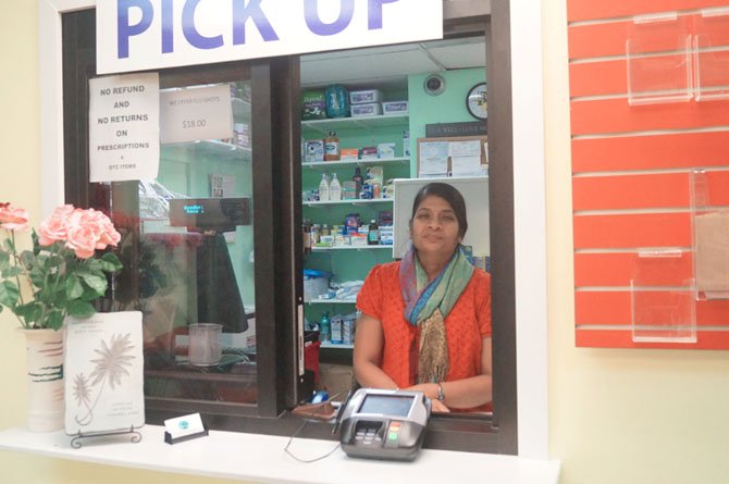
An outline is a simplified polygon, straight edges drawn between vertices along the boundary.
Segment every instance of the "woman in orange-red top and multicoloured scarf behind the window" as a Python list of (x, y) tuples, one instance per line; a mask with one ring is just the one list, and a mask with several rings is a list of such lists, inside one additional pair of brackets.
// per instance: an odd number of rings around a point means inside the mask
[(376, 265), (357, 297), (360, 385), (420, 390), (433, 411), (484, 410), (492, 397), (491, 280), (460, 250), (466, 202), (450, 185), (418, 191), (411, 247)]

